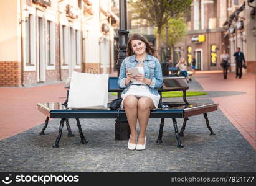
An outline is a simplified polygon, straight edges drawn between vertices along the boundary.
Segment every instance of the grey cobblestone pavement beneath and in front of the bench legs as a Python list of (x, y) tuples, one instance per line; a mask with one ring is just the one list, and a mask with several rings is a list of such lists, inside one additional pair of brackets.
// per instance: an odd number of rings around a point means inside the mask
[[(202, 90), (196, 81), (190, 87)], [(188, 100), (211, 103), (210, 97)], [(60, 148), (52, 148), (59, 120), (51, 120), (46, 135), (39, 135), (42, 124), (0, 141), (0, 172), (256, 172), (255, 149), (220, 110), (208, 117), (216, 136), (209, 136), (203, 115), (190, 117), (181, 137), (184, 148), (176, 147), (170, 119), (165, 120), (163, 144), (156, 144), (160, 120), (150, 119), (144, 151), (130, 151), (127, 141), (115, 141), (113, 119), (81, 120), (85, 145), (80, 144), (75, 120), (70, 119), (75, 136), (67, 137), (64, 126)], [(181, 128), (183, 120), (177, 121)]]

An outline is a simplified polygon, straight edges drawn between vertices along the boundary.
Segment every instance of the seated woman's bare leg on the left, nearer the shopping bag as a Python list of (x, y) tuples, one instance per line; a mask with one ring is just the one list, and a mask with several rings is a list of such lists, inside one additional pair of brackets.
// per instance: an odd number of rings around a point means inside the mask
[(137, 104), (138, 98), (135, 95), (128, 95), (123, 100), (126, 117), (131, 130), (129, 143), (136, 144), (136, 123), (137, 123)]

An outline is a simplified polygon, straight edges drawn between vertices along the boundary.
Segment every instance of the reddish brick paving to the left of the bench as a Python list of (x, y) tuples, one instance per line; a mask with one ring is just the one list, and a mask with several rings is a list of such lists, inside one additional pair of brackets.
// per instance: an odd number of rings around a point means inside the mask
[(0, 140), (44, 122), (39, 102), (64, 102), (64, 83), (35, 87), (0, 87)]

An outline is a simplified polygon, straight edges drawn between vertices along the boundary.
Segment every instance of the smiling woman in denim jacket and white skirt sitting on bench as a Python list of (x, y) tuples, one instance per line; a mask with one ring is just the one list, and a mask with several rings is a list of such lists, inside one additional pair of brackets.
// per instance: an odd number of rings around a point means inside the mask
[[(131, 135), (128, 149), (143, 150), (146, 147), (146, 127), (150, 110), (158, 108), (160, 95), (158, 89), (162, 87), (162, 69), (154, 54), (155, 50), (148, 40), (140, 34), (133, 34), (128, 40), (126, 58), (123, 60), (118, 78), (118, 85), (125, 88), (121, 93), (123, 101), (121, 108), (125, 108)], [(128, 68), (138, 67), (140, 74), (133, 76)], [(136, 143), (137, 118), (140, 125), (138, 143)]]

